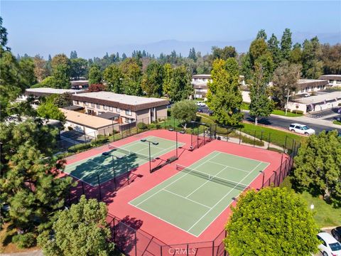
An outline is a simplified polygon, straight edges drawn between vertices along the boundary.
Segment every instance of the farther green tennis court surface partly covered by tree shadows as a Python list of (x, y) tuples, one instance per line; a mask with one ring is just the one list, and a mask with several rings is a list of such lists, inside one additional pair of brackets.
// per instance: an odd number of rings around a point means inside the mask
[[(141, 139), (158, 142), (158, 145), (151, 144), (152, 158), (156, 158), (175, 149), (175, 141), (169, 139), (153, 136)], [(178, 143), (178, 146), (181, 145), (183, 144)], [(119, 146), (119, 148), (109, 145), (109, 155), (104, 156), (101, 153), (73, 164), (68, 164), (64, 172), (85, 183), (89, 183), (91, 186), (98, 186), (98, 183), (107, 182), (142, 164), (146, 164), (149, 158), (148, 150), (148, 143), (141, 142), (140, 140)]]

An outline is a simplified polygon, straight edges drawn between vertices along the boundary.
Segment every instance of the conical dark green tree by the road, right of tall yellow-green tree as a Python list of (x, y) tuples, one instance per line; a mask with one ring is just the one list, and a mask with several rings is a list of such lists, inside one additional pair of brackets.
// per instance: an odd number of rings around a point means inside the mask
[(269, 92), (266, 90), (266, 80), (263, 76), (261, 65), (256, 65), (254, 78), (249, 85), (251, 104), (249, 106), (250, 115), (254, 117), (254, 124), (258, 124), (261, 117), (269, 117), (274, 109), (274, 102), (269, 98)]

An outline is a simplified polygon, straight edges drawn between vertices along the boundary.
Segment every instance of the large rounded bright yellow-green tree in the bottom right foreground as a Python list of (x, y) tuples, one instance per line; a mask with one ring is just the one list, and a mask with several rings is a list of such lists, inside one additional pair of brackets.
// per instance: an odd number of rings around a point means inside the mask
[(310, 255), (318, 227), (307, 204), (286, 188), (263, 188), (240, 196), (226, 226), (229, 255)]

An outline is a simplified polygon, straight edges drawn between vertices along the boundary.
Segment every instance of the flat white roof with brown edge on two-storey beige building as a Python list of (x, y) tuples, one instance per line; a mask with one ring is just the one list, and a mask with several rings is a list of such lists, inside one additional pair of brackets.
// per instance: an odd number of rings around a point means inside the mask
[(72, 95), (72, 100), (91, 102), (110, 107), (119, 107), (124, 110), (145, 110), (151, 107), (166, 106), (168, 100), (154, 97), (138, 97), (121, 95), (114, 92), (85, 92), (81, 95)]

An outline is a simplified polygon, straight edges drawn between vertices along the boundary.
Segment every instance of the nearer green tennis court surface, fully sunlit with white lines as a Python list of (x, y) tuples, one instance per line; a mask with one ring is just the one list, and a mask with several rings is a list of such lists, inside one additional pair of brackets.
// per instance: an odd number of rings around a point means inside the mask
[(268, 163), (214, 151), (129, 202), (199, 236)]

